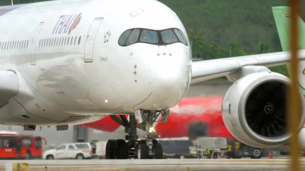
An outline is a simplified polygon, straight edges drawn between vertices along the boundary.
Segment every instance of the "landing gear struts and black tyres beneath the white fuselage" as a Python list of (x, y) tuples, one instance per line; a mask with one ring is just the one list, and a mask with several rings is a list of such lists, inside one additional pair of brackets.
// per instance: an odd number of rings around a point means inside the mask
[[(163, 116), (162, 122), (166, 122), (170, 111), (151, 111), (138, 110), (129, 114), (129, 120), (125, 115), (110, 115), (117, 123), (125, 127), (124, 139), (109, 139), (106, 144), (107, 159), (126, 159), (128, 157), (137, 157), (138, 159), (163, 158), (163, 148), (158, 143), (158, 133), (154, 129), (154, 122), (158, 121), (160, 115)], [(140, 123), (137, 123), (139, 117)], [(146, 132), (145, 139), (138, 140), (136, 129), (142, 129)]]

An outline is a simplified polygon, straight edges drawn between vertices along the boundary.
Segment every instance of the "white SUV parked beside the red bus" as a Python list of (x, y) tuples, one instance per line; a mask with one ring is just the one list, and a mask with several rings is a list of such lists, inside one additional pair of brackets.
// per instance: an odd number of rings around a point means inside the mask
[(55, 149), (49, 149), (43, 153), (44, 159), (91, 158), (92, 147), (90, 143), (65, 143)]

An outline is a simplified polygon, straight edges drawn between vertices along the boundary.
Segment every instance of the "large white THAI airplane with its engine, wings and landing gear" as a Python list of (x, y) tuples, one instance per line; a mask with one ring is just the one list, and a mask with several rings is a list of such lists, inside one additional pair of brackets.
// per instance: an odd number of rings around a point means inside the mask
[[(0, 7), (0, 122), (79, 124), (111, 115), (125, 139), (109, 140), (107, 158), (162, 158), (152, 125), (191, 83), (227, 76), (223, 101), (232, 134), (256, 147), (285, 143), (289, 78), (266, 66), (277, 52), (192, 62), (179, 17), (157, 0), (54, 0)], [(305, 51), (299, 52), (300, 59)], [(302, 103), (304, 99), (302, 98)], [(130, 113), (129, 120), (125, 115)], [(305, 114), (301, 113), (302, 126)], [(257, 119), (260, 118), (260, 119)], [(181, 123), (183, 124), (183, 123)], [(136, 129), (146, 130), (138, 140)]]

